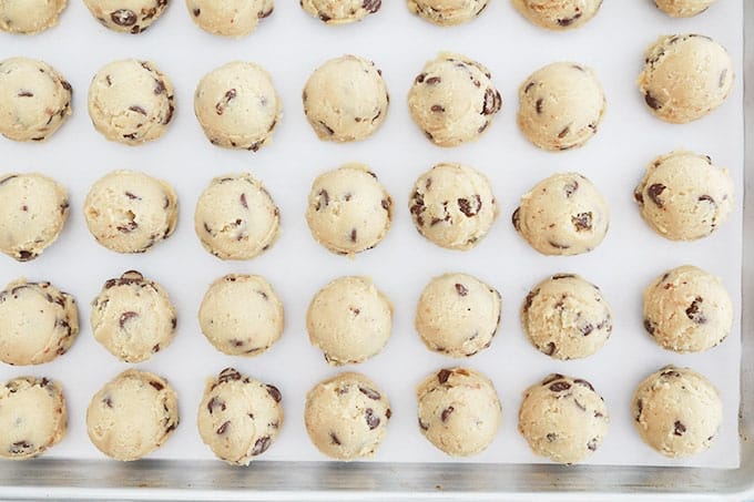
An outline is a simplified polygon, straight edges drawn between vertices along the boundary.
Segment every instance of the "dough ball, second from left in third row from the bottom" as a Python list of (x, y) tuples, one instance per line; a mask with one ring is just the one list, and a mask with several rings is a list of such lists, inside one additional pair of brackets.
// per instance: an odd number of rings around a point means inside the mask
[(92, 185), (84, 217), (108, 249), (144, 253), (173, 235), (179, 202), (166, 182), (137, 171), (113, 171)]

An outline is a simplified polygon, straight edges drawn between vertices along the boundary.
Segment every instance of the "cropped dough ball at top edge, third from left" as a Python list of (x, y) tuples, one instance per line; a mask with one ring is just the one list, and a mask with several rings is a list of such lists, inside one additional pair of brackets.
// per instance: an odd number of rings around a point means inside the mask
[(273, 13), (273, 0), (186, 0), (197, 27), (222, 37), (246, 37)]

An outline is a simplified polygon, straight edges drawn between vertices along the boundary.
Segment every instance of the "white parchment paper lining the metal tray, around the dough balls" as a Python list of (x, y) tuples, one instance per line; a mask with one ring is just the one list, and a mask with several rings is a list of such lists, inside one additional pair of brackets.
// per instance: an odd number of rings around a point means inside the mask
[[(476, 21), (442, 30), (408, 14), (404, 2), (385, 2), (378, 14), (350, 27), (325, 27), (295, 2), (278, 1), (272, 18), (243, 40), (205, 34), (175, 1), (151, 30), (129, 37), (101, 28), (80, 2), (72, 2), (61, 24), (33, 38), (0, 35), (0, 58), (26, 55), (45, 60), (74, 89), (74, 114), (47, 144), (0, 141), (2, 172), (39, 171), (63, 182), (71, 195), (71, 218), (59, 242), (29, 264), (0, 260), (0, 281), (19, 275), (49, 279), (75, 295), (82, 331), (73, 348), (57, 361), (37, 368), (0, 367), (0, 379), (40, 375), (61, 380), (69, 400), (68, 438), (49, 458), (103, 459), (88, 441), (85, 408), (102, 383), (129, 365), (116, 361), (91, 336), (89, 301), (102, 284), (131, 268), (159, 280), (179, 311), (173, 345), (139, 368), (166, 377), (180, 397), (182, 424), (152, 458), (212, 459), (195, 428), (204, 379), (235, 366), (283, 392), (286, 422), (265, 460), (326, 460), (309, 443), (303, 424), (305, 393), (336, 372), (309, 346), (305, 313), (316, 290), (349, 274), (369, 275), (393, 300), (394, 335), (386, 349), (356, 367), (387, 392), (394, 416), (376, 460), (442, 462), (416, 426), (414, 387), (444, 366), (468, 365), (485, 371), (503, 403), (503, 423), (482, 454), (465, 462), (536, 463), (516, 430), (521, 391), (557, 371), (590, 380), (611, 412), (608, 439), (591, 457), (595, 464), (700, 465), (738, 464), (737, 409), (740, 376), (741, 227), (743, 199), (743, 106), (741, 76), (731, 99), (715, 113), (686, 125), (664, 124), (645, 110), (635, 88), (646, 44), (660, 34), (700, 32), (723, 43), (741, 75), (742, 6), (717, 2), (690, 20), (672, 20), (652, 2), (605, 2), (583, 29), (548, 33), (522, 20), (508, 2), (491, 2)], [(503, 95), (503, 110), (483, 137), (470, 145), (442, 150), (427, 142), (411, 123), (406, 93), (424, 63), (440, 50), (465, 53), (492, 72)], [(363, 143), (319, 142), (305, 121), (300, 90), (309, 73), (325, 60), (355, 53), (376, 61), (391, 94), (380, 131)], [(153, 60), (176, 89), (176, 115), (169, 133), (140, 147), (113, 144), (91, 126), (85, 94), (92, 75), (121, 58)], [(272, 74), (284, 103), (275, 143), (256, 154), (223, 151), (204, 139), (193, 116), (193, 91), (207, 71), (227, 61), (246, 59)], [(531, 146), (516, 127), (518, 85), (536, 69), (557, 60), (573, 60), (595, 69), (608, 96), (608, 113), (598, 135), (584, 148), (551, 154)], [(721, 134), (721, 132), (724, 132)], [(670, 243), (641, 221), (632, 191), (644, 166), (674, 148), (710, 154), (727, 166), (736, 182), (737, 211), (712, 237), (696, 243)], [(393, 194), (394, 227), (375, 249), (347, 259), (330, 255), (310, 237), (303, 217), (306, 195), (322, 171), (345, 162), (369, 164)], [(414, 229), (407, 209), (415, 178), (437, 162), (463, 162), (485, 172), (500, 203), (501, 215), (490, 235), (468, 253), (439, 249)], [(181, 203), (173, 237), (152, 252), (122, 256), (99, 246), (89, 235), (81, 206), (89, 186), (114, 168), (140, 168), (167, 180)], [(198, 194), (213, 176), (249, 171), (259, 177), (281, 206), (283, 234), (265, 255), (246, 263), (223, 263), (203, 250), (193, 230)], [(579, 171), (590, 177), (611, 206), (611, 229), (594, 252), (578, 257), (544, 257), (516, 235), (509, 215), (518, 198), (539, 180), (557, 171)], [(641, 326), (641, 291), (668, 268), (694, 264), (723, 278), (734, 297), (736, 322), (720, 347), (702, 355), (681, 356), (654, 345)], [(429, 352), (412, 328), (416, 300), (434, 276), (459, 270), (477, 275), (503, 296), (502, 327), (492, 347), (457, 361)], [(272, 350), (254, 359), (216, 352), (198, 330), (196, 311), (206, 287), (227, 273), (256, 273), (268, 278), (286, 307), (286, 330)], [(613, 335), (598, 355), (579, 361), (554, 361), (524, 339), (518, 309), (531, 286), (549, 274), (575, 272), (598, 284), (615, 314)], [(626, 357), (628, 356), (628, 357)], [(629, 400), (648, 373), (665, 363), (691, 366), (719, 389), (725, 422), (713, 448), (693, 459), (672, 461), (643, 445), (631, 424)], [(454, 460), (458, 461), (458, 460)]]

